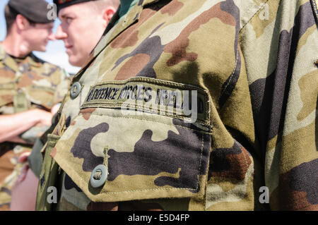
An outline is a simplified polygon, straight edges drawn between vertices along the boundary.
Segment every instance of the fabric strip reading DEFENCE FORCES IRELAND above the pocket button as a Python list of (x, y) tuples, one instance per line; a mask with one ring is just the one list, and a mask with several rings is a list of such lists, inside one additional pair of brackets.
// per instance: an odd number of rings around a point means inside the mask
[(90, 87), (81, 109), (117, 108), (123, 113), (148, 112), (208, 125), (209, 103), (208, 93), (201, 87), (153, 78), (130, 78)]

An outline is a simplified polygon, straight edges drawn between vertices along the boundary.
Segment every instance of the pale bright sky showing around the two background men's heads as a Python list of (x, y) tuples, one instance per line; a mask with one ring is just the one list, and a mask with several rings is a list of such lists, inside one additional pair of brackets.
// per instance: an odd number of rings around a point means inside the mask
[[(4, 7), (8, 0), (0, 0), (0, 41), (6, 37), (6, 22), (4, 20)], [(52, 1), (47, 0), (47, 2), (51, 3)], [(56, 20), (54, 23), (53, 32), (57, 30), (59, 25), (59, 20)], [(78, 67), (71, 66), (69, 64), (69, 56), (65, 53), (64, 42), (57, 40), (54, 42), (49, 42), (47, 45), (46, 52), (34, 51), (34, 54), (38, 56), (40, 59), (48, 61), (50, 63), (54, 63), (55, 65), (59, 65), (66, 69), (69, 73), (76, 73), (78, 71)]]

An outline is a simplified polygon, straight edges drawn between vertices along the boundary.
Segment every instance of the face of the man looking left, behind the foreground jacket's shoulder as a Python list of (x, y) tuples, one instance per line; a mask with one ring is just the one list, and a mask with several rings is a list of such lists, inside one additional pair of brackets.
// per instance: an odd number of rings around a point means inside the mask
[(69, 63), (83, 66), (105, 30), (105, 21), (86, 4), (62, 8), (59, 20), (61, 24), (55, 38), (64, 41)]

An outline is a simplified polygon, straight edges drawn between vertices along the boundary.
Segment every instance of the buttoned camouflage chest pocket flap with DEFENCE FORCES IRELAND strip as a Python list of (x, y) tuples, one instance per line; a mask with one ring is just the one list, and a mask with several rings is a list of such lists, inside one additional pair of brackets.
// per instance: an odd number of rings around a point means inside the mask
[(199, 87), (152, 78), (100, 83), (57, 142), (54, 159), (93, 202), (202, 199), (209, 109)]

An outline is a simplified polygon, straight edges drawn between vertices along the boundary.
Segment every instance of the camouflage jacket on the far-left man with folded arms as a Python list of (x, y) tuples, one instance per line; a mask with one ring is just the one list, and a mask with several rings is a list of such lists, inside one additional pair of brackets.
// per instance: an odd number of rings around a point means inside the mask
[[(13, 58), (6, 54), (1, 43), (0, 77), (0, 115), (35, 108), (51, 111), (55, 104), (62, 102), (70, 82), (64, 69), (32, 53), (24, 59)], [(20, 138), (33, 145), (42, 132), (30, 128)]]

